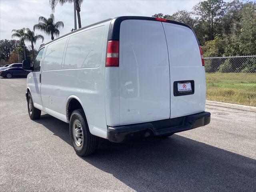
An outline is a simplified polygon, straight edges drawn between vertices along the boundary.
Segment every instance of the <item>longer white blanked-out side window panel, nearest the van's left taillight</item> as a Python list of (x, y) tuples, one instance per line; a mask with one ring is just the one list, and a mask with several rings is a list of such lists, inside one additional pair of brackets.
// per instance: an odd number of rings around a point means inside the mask
[(104, 28), (93, 28), (70, 37), (64, 69), (100, 66)]

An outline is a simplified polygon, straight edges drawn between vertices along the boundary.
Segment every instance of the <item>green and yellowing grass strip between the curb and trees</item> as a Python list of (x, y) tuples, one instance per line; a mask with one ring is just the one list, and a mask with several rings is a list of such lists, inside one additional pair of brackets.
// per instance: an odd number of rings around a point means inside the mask
[(256, 106), (256, 74), (206, 73), (206, 99)]

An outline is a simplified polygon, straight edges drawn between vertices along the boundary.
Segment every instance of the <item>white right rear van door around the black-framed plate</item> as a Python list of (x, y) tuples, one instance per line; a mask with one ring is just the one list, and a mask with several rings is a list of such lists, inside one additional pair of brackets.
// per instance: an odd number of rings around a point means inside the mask
[[(182, 25), (162, 22), (170, 62), (170, 118), (203, 112), (206, 80), (194, 32)], [(194, 80), (194, 94), (174, 96), (174, 82)]]

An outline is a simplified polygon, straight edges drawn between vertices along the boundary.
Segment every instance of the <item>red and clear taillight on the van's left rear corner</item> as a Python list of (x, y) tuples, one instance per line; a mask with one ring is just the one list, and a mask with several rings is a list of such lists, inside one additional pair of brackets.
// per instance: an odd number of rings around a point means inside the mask
[(106, 67), (119, 66), (119, 41), (109, 40), (107, 46)]

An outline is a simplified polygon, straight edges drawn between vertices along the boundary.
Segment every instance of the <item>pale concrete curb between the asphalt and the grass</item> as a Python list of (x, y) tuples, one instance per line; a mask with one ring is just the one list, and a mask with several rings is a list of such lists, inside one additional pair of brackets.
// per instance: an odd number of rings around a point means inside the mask
[(238, 104), (232, 104), (232, 103), (223, 103), (223, 102), (218, 102), (218, 101), (208, 101), (208, 100), (206, 100), (206, 105), (256, 112), (256, 107), (246, 106), (246, 105), (238, 105)]

